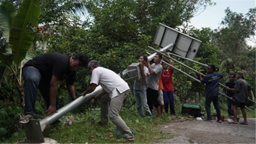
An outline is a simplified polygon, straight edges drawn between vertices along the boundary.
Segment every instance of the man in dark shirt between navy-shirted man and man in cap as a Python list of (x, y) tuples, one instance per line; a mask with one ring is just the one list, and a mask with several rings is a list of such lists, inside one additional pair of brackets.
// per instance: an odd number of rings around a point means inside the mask
[[(236, 78), (236, 74), (230, 74), (229, 75), (229, 80), (227, 80), (225, 82), (225, 86), (229, 87), (229, 88), (235, 88), (235, 78)], [(223, 88), (222, 91), (223, 94), (226, 94), (229, 97), (234, 98), (235, 92), (232, 92), (231, 90), (226, 90), (226, 88)], [(233, 110), (232, 110), (232, 100), (230, 100), (229, 98), (227, 98), (227, 106), (228, 106), (228, 118), (230, 118), (231, 116), (233, 116)]]

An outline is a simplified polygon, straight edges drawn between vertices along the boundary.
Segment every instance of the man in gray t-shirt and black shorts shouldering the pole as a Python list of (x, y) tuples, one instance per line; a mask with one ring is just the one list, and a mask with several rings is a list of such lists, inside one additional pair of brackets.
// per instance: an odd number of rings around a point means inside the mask
[(157, 53), (154, 56), (154, 63), (150, 65), (150, 60), (148, 60), (148, 70), (150, 73), (150, 76), (146, 78), (146, 82), (148, 85), (147, 89), (147, 100), (148, 100), (148, 106), (150, 108), (150, 111), (152, 113), (153, 105), (156, 108), (158, 117), (158, 120), (162, 120), (161, 116), (161, 109), (160, 109), (160, 103), (158, 101), (158, 87), (159, 87), (159, 79), (162, 72), (162, 65), (160, 64), (162, 60), (162, 54)]

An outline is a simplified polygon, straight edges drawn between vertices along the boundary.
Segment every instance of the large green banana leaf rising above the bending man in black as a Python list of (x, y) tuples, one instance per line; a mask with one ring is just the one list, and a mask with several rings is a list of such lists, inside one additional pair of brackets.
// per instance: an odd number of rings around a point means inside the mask
[(12, 21), (12, 27), (15, 28), (10, 30), (9, 44), (15, 64), (19, 64), (26, 57), (26, 53), (35, 37), (34, 33), (27, 31), (31, 31), (28, 24), (31, 23), (37, 26), (40, 12), (40, 0), (24, 0)]

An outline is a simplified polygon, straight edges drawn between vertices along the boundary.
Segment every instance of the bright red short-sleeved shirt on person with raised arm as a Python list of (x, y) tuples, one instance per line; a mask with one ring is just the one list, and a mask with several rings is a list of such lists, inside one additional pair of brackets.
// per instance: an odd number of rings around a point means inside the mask
[(173, 68), (162, 70), (161, 78), (164, 86), (164, 91), (167, 91), (167, 92), (173, 91), (173, 84), (172, 84), (173, 71), (174, 71)]

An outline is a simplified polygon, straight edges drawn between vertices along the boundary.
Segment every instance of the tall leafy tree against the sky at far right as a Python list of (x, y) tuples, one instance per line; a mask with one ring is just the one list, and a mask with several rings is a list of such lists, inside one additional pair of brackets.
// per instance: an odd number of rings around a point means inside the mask
[(256, 32), (256, 8), (252, 8), (247, 14), (232, 12), (229, 8), (225, 10), (226, 16), (223, 18), (220, 30), (216, 32), (214, 41), (225, 53), (223, 66), (230, 68), (230, 65), (240, 67), (256, 81), (255, 58), (250, 52), (251, 46), (246, 44), (246, 40), (255, 36)]

